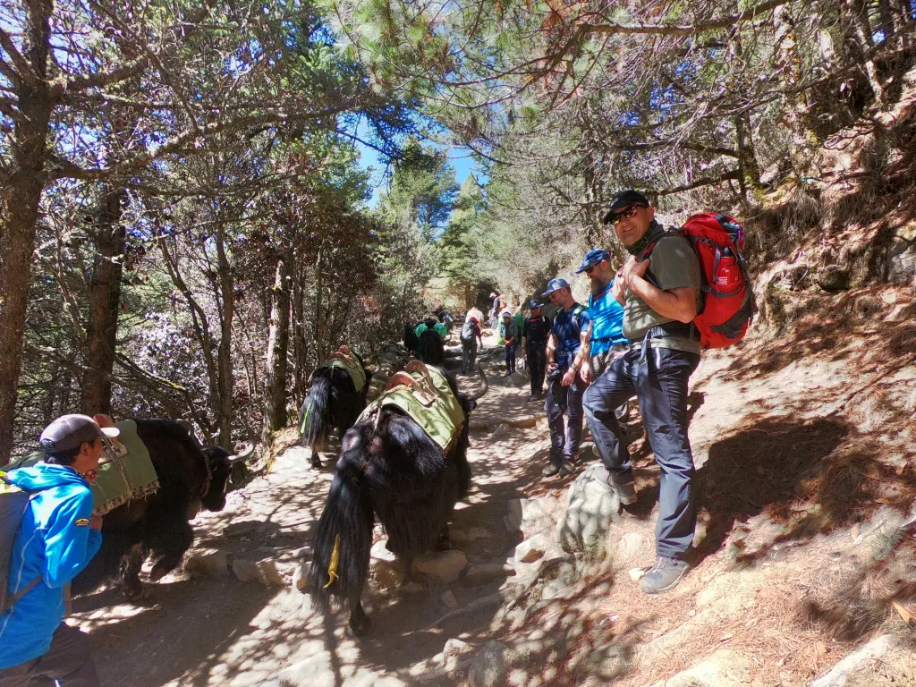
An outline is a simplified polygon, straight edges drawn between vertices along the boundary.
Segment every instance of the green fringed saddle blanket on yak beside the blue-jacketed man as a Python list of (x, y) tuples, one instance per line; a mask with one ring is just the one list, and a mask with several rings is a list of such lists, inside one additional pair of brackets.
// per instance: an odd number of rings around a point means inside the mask
[[(121, 433), (117, 439), (105, 442), (102, 460), (96, 479), (90, 486), (93, 492), (93, 515), (105, 515), (114, 508), (152, 494), (159, 488), (159, 480), (147, 445), (136, 434), (134, 420), (115, 422)], [(28, 467), (44, 459), (44, 453), (29, 453), (14, 463), (0, 468), (7, 472), (17, 467)]]

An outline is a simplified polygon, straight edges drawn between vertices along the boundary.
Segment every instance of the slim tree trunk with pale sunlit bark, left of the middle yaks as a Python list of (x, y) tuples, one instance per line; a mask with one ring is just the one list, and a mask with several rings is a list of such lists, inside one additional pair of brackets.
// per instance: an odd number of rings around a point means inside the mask
[(289, 350), (289, 268), (277, 263), (277, 277), (271, 289), (270, 329), (267, 333), (267, 380), (264, 389), (265, 445), (271, 432), (287, 424), (287, 353)]

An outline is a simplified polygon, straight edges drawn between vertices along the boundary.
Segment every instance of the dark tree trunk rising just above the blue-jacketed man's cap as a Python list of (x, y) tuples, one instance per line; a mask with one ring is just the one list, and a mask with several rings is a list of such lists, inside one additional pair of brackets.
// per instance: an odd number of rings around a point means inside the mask
[(121, 224), (126, 193), (106, 191), (95, 227), (95, 258), (89, 285), (86, 322), (86, 367), (82, 376), (82, 412), (111, 412), (112, 373), (121, 303), (125, 227)]

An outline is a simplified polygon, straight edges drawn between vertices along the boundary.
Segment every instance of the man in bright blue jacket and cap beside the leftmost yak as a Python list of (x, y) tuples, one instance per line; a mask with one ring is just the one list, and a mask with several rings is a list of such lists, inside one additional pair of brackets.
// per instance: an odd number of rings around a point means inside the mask
[(42, 680), (60, 687), (100, 684), (86, 636), (63, 622), (63, 588), (102, 545), (102, 518), (93, 517), (89, 483), (103, 437), (117, 434), (86, 415), (64, 415), (41, 432), (44, 462), (6, 475), (36, 493), (13, 542), (8, 593), (13, 598), (34, 586), (0, 615), (0, 687)]

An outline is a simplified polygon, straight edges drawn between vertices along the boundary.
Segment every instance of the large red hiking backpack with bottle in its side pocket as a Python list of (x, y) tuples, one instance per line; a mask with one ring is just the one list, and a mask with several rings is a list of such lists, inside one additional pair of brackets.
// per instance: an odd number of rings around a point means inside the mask
[[(690, 241), (700, 258), (703, 302), (693, 325), (703, 349), (725, 348), (744, 338), (754, 316), (754, 293), (747, 278), (744, 228), (723, 213), (692, 214), (679, 234)], [(644, 256), (649, 256), (654, 244)]]

